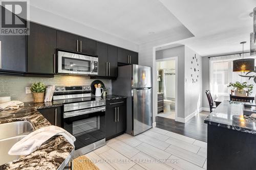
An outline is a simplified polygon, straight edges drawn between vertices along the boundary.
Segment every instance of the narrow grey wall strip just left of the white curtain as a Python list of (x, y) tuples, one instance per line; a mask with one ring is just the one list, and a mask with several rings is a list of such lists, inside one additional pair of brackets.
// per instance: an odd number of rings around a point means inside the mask
[(203, 83), (202, 83), (202, 87), (203, 87), (203, 107), (204, 108), (209, 108), (209, 104), (208, 104), (208, 100), (205, 94), (205, 90), (209, 90), (210, 86), (209, 86), (209, 58), (208, 57), (202, 57), (202, 75), (203, 75)]

